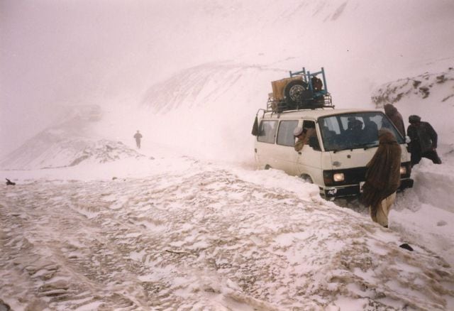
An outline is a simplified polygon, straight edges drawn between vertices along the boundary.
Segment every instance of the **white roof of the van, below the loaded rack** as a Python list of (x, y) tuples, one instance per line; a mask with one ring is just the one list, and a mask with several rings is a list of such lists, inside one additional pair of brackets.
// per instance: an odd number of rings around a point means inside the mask
[[(265, 112), (262, 119), (319, 119), (321, 116), (352, 114), (355, 112), (377, 112), (377, 109), (304, 109), (282, 112)], [(382, 111), (380, 111), (382, 112)]]

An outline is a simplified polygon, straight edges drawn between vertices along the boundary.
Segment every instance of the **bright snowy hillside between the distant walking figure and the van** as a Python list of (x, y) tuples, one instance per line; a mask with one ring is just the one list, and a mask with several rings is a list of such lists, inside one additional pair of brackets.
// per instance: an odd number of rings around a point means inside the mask
[(191, 67), (152, 85), (137, 111), (124, 107), (107, 112), (109, 121), (96, 129), (99, 136), (131, 142), (131, 131), (137, 128), (144, 146), (162, 143), (186, 155), (252, 162), (255, 114), (266, 107), (271, 81), (288, 75), (274, 67), (236, 62)]

